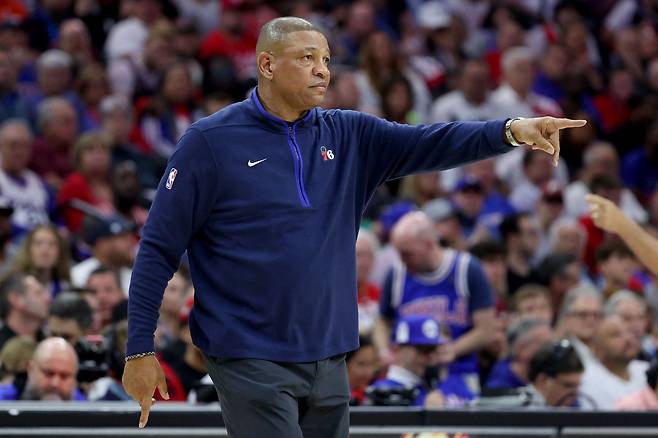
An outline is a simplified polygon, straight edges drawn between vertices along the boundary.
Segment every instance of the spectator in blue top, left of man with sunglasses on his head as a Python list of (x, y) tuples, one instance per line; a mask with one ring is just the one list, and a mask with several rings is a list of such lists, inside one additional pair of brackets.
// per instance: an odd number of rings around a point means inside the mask
[(508, 357), (494, 366), (486, 388), (513, 389), (528, 384), (530, 361), (539, 347), (551, 340), (549, 323), (536, 318), (521, 318), (507, 328)]

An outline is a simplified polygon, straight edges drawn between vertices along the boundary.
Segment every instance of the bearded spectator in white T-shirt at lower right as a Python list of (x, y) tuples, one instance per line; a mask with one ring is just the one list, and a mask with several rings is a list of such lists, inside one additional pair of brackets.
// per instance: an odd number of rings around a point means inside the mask
[(598, 362), (588, 364), (581, 392), (599, 409), (612, 409), (615, 401), (646, 385), (648, 363), (635, 360), (640, 343), (618, 315), (606, 316), (593, 342)]

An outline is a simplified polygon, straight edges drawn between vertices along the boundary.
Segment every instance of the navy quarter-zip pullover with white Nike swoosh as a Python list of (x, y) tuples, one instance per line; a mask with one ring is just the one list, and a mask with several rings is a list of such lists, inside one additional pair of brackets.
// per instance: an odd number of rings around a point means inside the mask
[(384, 181), (502, 154), (504, 121), (407, 126), (312, 109), (289, 123), (257, 92), (180, 139), (133, 268), (127, 355), (154, 351), (188, 251), (190, 331), (207, 354), (310, 362), (358, 347), (354, 245)]

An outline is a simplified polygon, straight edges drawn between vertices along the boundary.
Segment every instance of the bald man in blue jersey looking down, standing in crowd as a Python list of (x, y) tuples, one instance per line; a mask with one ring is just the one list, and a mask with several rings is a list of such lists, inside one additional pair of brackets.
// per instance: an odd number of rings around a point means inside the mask
[(430, 316), (446, 324), (457, 359), (450, 374), (479, 391), (475, 352), (496, 334), (493, 292), (477, 259), (442, 248), (432, 220), (423, 212), (403, 216), (391, 234), (403, 265), (389, 273), (380, 301), (375, 340), (388, 349), (390, 330), (403, 316)]

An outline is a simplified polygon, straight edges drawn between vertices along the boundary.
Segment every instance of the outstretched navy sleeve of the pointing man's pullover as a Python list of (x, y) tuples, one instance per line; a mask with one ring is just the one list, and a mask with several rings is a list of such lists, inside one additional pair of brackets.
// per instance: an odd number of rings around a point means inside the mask
[(371, 191), (389, 179), (449, 169), (514, 148), (503, 141), (505, 120), (410, 126), (355, 111), (344, 113), (359, 139)]

